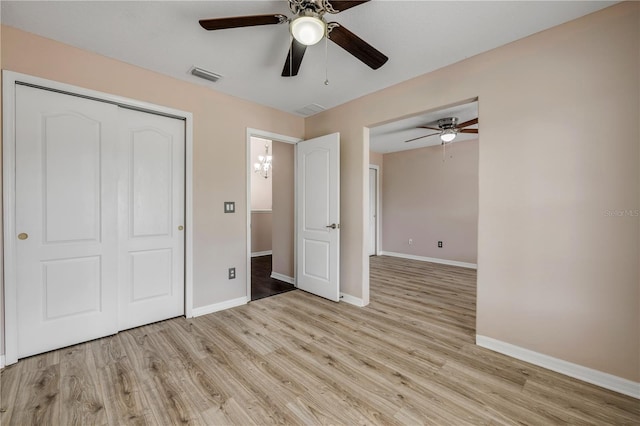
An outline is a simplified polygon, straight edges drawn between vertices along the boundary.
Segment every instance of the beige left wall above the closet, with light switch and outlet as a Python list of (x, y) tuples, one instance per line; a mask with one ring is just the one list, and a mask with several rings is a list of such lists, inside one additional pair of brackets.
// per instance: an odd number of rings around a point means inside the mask
[(246, 129), (302, 137), (302, 118), (6, 26), (2, 67), (192, 112), (194, 306), (247, 296)]

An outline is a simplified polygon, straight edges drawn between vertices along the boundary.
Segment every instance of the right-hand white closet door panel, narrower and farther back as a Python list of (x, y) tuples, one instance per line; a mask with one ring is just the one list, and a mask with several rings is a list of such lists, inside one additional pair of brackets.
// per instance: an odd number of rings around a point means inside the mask
[(184, 314), (184, 121), (120, 109), (119, 328)]

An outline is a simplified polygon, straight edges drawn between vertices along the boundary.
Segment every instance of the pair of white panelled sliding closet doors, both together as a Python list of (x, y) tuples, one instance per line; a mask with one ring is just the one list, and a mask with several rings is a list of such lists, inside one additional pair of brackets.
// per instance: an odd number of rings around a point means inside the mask
[(18, 357), (183, 314), (183, 122), (21, 85), (15, 112)]

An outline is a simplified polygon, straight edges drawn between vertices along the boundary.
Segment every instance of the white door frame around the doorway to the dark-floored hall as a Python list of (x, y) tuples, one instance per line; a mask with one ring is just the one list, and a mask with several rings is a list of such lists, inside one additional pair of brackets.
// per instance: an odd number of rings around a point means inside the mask
[[(297, 144), (298, 142), (302, 142), (304, 139), (300, 139), (300, 138), (294, 138), (293, 136), (285, 136), (285, 135), (280, 135), (277, 133), (272, 133), (272, 132), (268, 132), (266, 130), (259, 130), (259, 129), (252, 129), (250, 127), (247, 127), (247, 272), (246, 272), (246, 277), (247, 277), (247, 283), (246, 283), (246, 287), (247, 287), (247, 301), (251, 301), (251, 178), (252, 178), (252, 173), (253, 173), (253, 164), (251, 163), (251, 138), (255, 137), (255, 138), (261, 138), (261, 139), (269, 139), (271, 142), (284, 142), (284, 143), (290, 143), (290, 144)], [(273, 153), (273, 148), (271, 149), (271, 152)], [(294, 162), (294, 176), (297, 170), (297, 166), (296, 166), (296, 154), (294, 154), (294, 158), (293, 158), (293, 162)], [(293, 264), (294, 264), (294, 272), (293, 272), (293, 278), (295, 281), (295, 278), (298, 276), (298, 266), (296, 264), (296, 250), (297, 250), (297, 239), (296, 239), (296, 235), (295, 235), (295, 229), (296, 229), (296, 225), (298, 223), (298, 212), (296, 209), (296, 206), (298, 205), (298, 199), (297, 199), (297, 188), (298, 188), (298, 182), (296, 182), (294, 180), (294, 200), (293, 200), (293, 205), (294, 205), (294, 248), (293, 248)], [(295, 283), (294, 283), (295, 285)]]

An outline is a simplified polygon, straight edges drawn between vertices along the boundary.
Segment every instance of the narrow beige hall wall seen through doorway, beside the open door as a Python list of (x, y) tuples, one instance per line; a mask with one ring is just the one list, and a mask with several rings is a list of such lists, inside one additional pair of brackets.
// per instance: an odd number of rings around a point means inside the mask
[(273, 272), (294, 276), (295, 146), (273, 142)]

